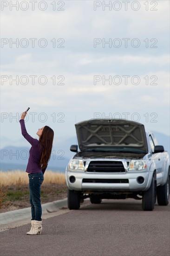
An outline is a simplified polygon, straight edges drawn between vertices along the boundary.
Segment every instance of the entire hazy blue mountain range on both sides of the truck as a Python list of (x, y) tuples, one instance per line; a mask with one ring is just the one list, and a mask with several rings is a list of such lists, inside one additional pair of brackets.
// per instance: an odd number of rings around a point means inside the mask
[[(153, 132), (157, 137), (159, 145), (163, 145), (164, 149), (170, 154), (170, 136), (164, 135), (162, 133)], [(10, 141), (7, 141), (7, 143)], [(17, 141), (16, 141), (17, 142)], [(18, 144), (18, 142), (17, 142)], [(30, 145), (29, 143), (27, 143)], [(70, 151), (70, 146), (72, 144), (78, 144), (76, 137), (71, 137), (65, 140), (60, 140), (58, 145), (53, 145), (51, 159), (48, 164), (48, 169), (53, 171), (60, 170), (65, 171), (65, 168), (70, 160), (70, 158), (75, 155), (74, 152)], [(31, 145), (30, 145), (31, 147)], [(1, 149), (0, 152), (0, 169), (21, 169), (26, 170), (26, 165), (29, 157), (30, 147), (17, 147), (7, 146)]]

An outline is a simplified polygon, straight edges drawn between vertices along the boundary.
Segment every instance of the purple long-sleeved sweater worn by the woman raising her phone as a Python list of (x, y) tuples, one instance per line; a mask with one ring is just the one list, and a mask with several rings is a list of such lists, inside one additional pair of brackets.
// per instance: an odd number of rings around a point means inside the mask
[(22, 135), (32, 145), (29, 151), (29, 159), (26, 167), (26, 172), (27, 173), (40, 172), (44, 174), (46, 171), (46, 168), (44, 168), (43, 170), (39, 168), (39, 161), (41, 159), (41, 154), (42, 154), (42, 150), (39, 151), (39, 148), (38, 148), (38, 145), (40, 142), (37, 139), (34, 139), (33, 137), (31, 137), (27, 133), (24, 119), (20, 119), (20, 126), (21, 126)]

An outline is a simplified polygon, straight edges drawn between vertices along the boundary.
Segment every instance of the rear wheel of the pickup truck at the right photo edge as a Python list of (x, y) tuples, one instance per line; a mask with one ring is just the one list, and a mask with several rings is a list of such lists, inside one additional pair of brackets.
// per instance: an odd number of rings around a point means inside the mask
[(170, 178), (168, 176), (163, 186), (157, 187), (157, 202), (159, 205), (168, 205), (170, 198)]

